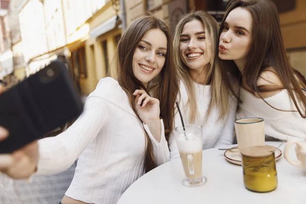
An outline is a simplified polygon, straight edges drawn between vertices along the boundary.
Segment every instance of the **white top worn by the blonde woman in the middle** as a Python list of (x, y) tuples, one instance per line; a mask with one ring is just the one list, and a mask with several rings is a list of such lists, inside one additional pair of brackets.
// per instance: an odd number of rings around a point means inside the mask
[[(219, 118), (219, 110), (217, 107), (213, 107), (210, 112), (210, 115), (207, 120), (205, 117), (207, 115), (207, 111), (210, 105), (212, 93), (210, 85), (200, 85), (194, 82), (195, 95), (196, 95), (196, 103), (199, 118), (195, 123), (202, 125), (202, 143), (203, 150), (209, 149), (213, 147), (218, 147), (222, 145), (233, 144), (233, 131), (234, 131), (234, 122), (235, 122), (235, 113), (237, 109), (238, 100), (230, 95), (228, 97), (230, 103), (230, 112), (228, 117), (225, 117), (222, 120), (218, 121)], [(189, 106), (186, 106), (188, 101), (188, 92), (184, 85), (184, 83), (180, 82), (180, 110), (183, 115), (184, 124), (189, 123)], [(181, 117), (179, 112), (175, 114), (174, 117), (174, 126), (182, 126)], [(170, 135), (169, 139), (170, 143), (170, 158), (175, 159), (179, 158), (179, 150), (177, 149), (177, 145), (175, 142), (174, 135)]]

